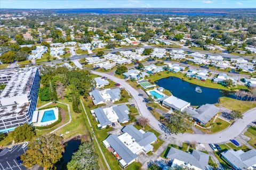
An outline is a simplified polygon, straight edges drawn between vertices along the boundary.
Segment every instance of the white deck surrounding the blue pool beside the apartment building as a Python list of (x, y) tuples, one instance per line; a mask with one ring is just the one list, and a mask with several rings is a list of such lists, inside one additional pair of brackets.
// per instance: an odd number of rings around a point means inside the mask
[[(50, 111), (50, 110), (53, 110), (54, 115), (55, 115), (55, 119), (52, 120), (52, 121), (41, 122), (42, 118), (43, 118), (43, 115), (44, 115), (44, 112), (45, 111)], [(48, 109), (44, 109), (44, 110), (41, 110), (41, 111), (35, 111), (35, 112), (38, 112), (38, 117), (37, 117), (37, 122), (33, 123), (34, 126), (47, 126), (47, 125), (50, 125), (50, 124), (56, 122), (59, 118), (59, 109), (58, 109), (58, 107), (48, 108)], [(34, 113), (34, 115), (35, 114), (36, 113)]]

